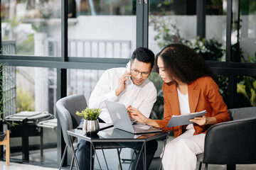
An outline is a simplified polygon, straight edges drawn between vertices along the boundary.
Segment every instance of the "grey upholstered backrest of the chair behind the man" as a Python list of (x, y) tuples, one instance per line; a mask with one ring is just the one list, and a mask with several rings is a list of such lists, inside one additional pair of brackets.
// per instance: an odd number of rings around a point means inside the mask
[(80, 94), (75, 94), (72, 96), (67, 96), (61, 98), (56, 103), (56, 109), (58, 113), (58, 118), (60, 121), (60, 126), (63, 131), (63, 138), (66, 145), (71, 147), (70, 141), (68, 139), (67, 130), (76, 128), (81, 120), (79, 115), (76, 115), (76, 111), (82, 111), (87, 107), (85, 96)]

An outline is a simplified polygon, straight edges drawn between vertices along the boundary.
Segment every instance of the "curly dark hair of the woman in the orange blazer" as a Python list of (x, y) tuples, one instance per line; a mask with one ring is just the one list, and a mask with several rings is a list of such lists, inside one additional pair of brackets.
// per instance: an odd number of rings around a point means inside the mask
[(156, 72), (159, 73), (159, 68), (157, 67), (158, 57), (161, 57), (163, 60), (164, 69), (166, 69), (167, 73), (174, 75), (174, 77), (183, 83), (190, 84), (200, 77), (208, 76), (215, 80), (215, 75), (208, 67), (208, 64), (194, 50), (186, 45), (171, 44), (164, 47), (156, 55)]

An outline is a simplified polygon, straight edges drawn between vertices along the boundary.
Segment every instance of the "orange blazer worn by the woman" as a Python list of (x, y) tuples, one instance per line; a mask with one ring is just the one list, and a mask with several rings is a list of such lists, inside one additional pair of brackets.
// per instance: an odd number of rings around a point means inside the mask
[[(172, 115), (181, 115), (178, 103), (178, 91), (176, 83), (163, 84), (164, 93), (164, 119), (156, 120), (159, 126), (166, 130), (174, 130), (175, 137), (178, 137), (186, 131), (187, 125), (167, 128), (167, 124)], [(230, 120), (228, 108), (220, 95), (218, 85), (211, 77), (201, 77), (188, 84), (188, 103), (191, 113), (204, 111), (206, 117), (215, 117), (217, 123)], [(210, 125), (193, 124), (195, 128), (194, 135), (206, 133)]]

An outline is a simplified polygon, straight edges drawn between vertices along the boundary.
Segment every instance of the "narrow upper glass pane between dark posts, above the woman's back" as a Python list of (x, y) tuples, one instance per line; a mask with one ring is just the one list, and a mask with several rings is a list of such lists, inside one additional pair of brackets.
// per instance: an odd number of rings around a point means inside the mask
[(198, 38), (199, 55), (204, 60), (225, 61), (227, 1), (206, 1), (206, 36)]

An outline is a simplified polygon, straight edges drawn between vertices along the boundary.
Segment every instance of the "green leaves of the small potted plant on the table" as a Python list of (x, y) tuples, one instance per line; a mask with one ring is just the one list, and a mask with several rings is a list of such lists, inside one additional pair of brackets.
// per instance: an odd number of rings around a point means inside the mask
[(85, 110), (77, 111), (75, 114), (82, 116), (85, 120), (97, 120), (101, 112), (100, 108), (85, 108)]

